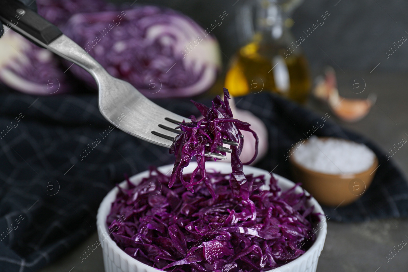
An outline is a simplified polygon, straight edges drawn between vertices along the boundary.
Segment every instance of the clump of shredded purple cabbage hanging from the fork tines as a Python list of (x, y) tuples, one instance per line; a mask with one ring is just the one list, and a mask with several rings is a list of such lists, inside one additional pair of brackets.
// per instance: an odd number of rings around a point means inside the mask
[[(241, 194), (246, 201), (248, 200), (248, 191), (245, 191), (244, 188), (240, 188), (240, 186), (246, 182), (246, 178), (242, 170), (243, 163), (239, 159), (242, 147), (244, 146), (244, 139), (241, 139), (240, 136), (242, 134), (239, 130), (250, 131), (256, 139), (255, 155), (245, 164), (253, 162), (258, 154), (258, 137), (256, 133), (249, 128), (251, 126), (250, 124), (233, 119), (228, 100), (230, 100), (230, 96), (226, 88), (224, 88), (224, 101), (221, 100), (219, 95), (217, 95), (213, 100), (211, 108), (191, 100), (204, 118), (197, 121), (194, 116), (191, 116), (191, 123), (183, 122), (180, 124), (180, 128), (184, 133), (177, 135), (170, 147), (170, 153), (174, 153), (176, 158), (170, 178), (170, 188), (176, 181), (181, 181), (181, 183), (186, 186), (187, 190), (194, 192), (193, 186), (204, 181), (211, 195), (215, 199), (217, 196), (210, 185), (210, 180), (206, 176), (204, 164), (205, 161), (208, 161), (211, 158), (205, 157), (204, 153), (209, 151), (211, 153), (221, 153), (222, 155), (226, 155), (225, 152), (218, 151), (217, 146), (222, 146), (222, 140), (227, 139), (239, 142), (238, 146), (231, 146), (231, 188), (236, 196)], [(206, 146), (206, 144), (209, 146)], [(198, 166), (193, 171), (190, 180), (186, 181), (183, 178), (183, 168), (188, 166), (193, 157), (196, 158)], [(200, 172), (202, 178), (193, 181), (198, 172)]]

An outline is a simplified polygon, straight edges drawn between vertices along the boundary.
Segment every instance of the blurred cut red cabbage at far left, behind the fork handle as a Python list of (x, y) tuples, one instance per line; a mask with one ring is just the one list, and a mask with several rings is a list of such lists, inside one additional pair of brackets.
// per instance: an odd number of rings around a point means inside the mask
[[(58, 27), (71, 15), (81, 12), (112, 9), (103, 0), (37, 0), (38, 13)], [(0, 39), (0, 82), (23, 93), (35, 95), (60, 94), (73, 90), (68, 67), (47, 49), (5, 28)]]

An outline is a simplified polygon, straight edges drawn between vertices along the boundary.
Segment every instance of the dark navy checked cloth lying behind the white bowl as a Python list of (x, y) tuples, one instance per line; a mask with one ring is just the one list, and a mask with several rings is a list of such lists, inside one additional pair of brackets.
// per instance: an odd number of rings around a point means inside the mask
[[(209, 102), (205, 101), (206, 103)], [(187, 100), (158, 104), (198, 115)], [(67, 253), (95, 231), (100, 202), (124, 174), (171, 164), (166, 148), (113, 128), (99, 113), (96, 95), (0, 95), (0, 267), (34, 271)], [(269, 131), (269, 149), (257, 167), (290, 177), (287, 149), (322, 117), (275, 95), (244, 97), (237, 105)], [(317, 136), (362, 142), (379, 158), (373, 184), (356, 203), (324, 208), (331, 220), (352, 222), (408, 215), (406, 180), (368, 139), (330, 121)], [(97, 140), (98, 139), (98, 140)]]

